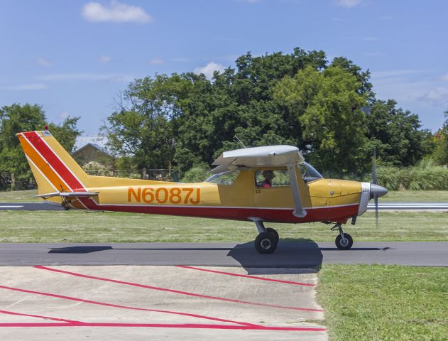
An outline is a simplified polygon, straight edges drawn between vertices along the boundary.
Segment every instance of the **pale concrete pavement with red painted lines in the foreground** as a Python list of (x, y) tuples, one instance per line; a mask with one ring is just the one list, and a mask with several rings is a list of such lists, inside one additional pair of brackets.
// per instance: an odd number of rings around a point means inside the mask
[(0, 267), (0, 340), (327, 340), (317, 275), (283, 272)]

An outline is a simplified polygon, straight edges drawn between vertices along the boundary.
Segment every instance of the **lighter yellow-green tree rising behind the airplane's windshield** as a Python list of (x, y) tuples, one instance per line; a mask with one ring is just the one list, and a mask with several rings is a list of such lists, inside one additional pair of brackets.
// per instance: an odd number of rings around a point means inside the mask
[(339, 66), (323, 72), (307, 67), (275, 87), (275, 99), (300, 125), (302, 151), (318, 169), (362, 171), (366, 155), (362, 85)]

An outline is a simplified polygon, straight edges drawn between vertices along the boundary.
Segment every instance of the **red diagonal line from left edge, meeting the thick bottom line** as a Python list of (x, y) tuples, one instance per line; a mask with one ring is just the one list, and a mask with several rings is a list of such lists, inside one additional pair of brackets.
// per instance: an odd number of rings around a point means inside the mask
[(141, 311), (151, 311), (155, 313), (167, 313), (167, 314), (174, 314), (174, 315), (183, 315), (183, 316), (190, 316), (192, 318), (204, 318), (206, 320), (213, 320), (213, 321), (219, 321), (219, 322), (227, 322), (227, 323), (236, 323), (237, 325), (248, 325), (248, 326), (256, 326), (251, 323), (244, 323), (244, 322), (238, 322), (233, 320), (225, 320), (223, 318), (212, 318), (209, 316), (204, 315), (196, 315), (196, 314), (190, 314), (190, 313), (180, 313), (177, 311), (170, 311), (170, 310), (158, 310), (158, 309), (146, 309), (146, 308), (136, 308), (136, 307), (129, 307), (126, 305), (118, 305), (113, 303), (104, 303), (104, 302), (98, 302), (98, 301), (89, 301), (84, 300), (82, 298), (76, 298), (71, 296), (62, 296), (57, 295), (55, 293), (43, 293), (40, 291), (32, 291), (32, 290), (26, 290), (21, 288), (12, 288), (10, 286), (0, 286), (1, 289), (6, 290), (12, 290), (12, 291), (20, 291), (22, 293), (35, 293), (36, 295), (42, 295), (42, 296), (50, 296), (55, 298), (62, 298), (64, 300), (70, 300), (70, 301), (77, 301), (77, 302), (84, 302), (84, 303), (90, 303), (90, 304), (97, 304), (97, 305), (105, 305), (106, 307), (114, 307), (114, 308), (122, 308), (122, 309), (130, 309), (130, 310), (141, 310)]

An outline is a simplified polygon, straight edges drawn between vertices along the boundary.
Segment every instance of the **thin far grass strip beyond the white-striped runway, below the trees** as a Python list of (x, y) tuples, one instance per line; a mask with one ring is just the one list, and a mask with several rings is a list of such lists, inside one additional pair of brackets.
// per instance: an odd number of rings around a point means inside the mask
[[(38, 202), (36, 190), (0, 192), (0, 202)], [(379, 201), (448, 201), (448, 190), (391, 190)]]

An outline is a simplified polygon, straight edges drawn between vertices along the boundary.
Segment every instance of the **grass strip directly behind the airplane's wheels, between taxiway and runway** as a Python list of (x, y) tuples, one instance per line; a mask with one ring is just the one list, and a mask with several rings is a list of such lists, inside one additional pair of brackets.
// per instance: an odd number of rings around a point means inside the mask
[[(281, 239), (333, 242), (330, 225), (266, 224)], [(447, 212), (373, 212), (347, 224), (355, 241), (448, 241)], [(253, 222), (120, 212), (0, 211), (0, 242), (251, 242)]]

